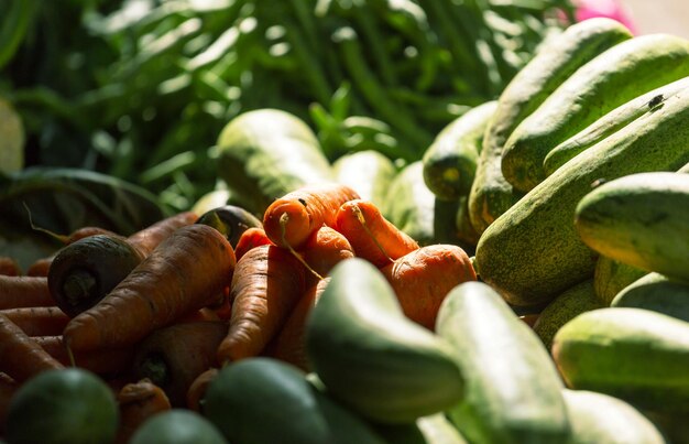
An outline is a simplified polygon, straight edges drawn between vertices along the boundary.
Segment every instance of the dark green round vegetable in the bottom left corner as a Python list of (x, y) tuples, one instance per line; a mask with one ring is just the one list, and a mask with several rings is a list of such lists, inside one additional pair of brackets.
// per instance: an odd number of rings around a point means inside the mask
[(119, 421), (112, 390), (96, 375), (47, 370), (24, 382), (8, 407), (11, 444), (112, 443)]

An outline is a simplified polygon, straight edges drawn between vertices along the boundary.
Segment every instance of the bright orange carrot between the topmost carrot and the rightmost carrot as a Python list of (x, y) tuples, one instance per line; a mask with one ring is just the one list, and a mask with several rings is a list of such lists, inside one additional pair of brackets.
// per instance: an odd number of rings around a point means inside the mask
[(356, 199), (342, 204), (337, 213), (336, 229), (349, 240), (357, 257), (378, 268), (419, 247), (369, 201)]

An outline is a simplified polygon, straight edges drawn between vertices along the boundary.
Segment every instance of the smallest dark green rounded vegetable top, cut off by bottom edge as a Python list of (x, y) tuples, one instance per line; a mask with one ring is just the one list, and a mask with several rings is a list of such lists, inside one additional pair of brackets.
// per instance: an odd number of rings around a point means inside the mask
[(206, 418), (186, 409), (161, 412), (136, 429), (129, 444), (226, 444)]

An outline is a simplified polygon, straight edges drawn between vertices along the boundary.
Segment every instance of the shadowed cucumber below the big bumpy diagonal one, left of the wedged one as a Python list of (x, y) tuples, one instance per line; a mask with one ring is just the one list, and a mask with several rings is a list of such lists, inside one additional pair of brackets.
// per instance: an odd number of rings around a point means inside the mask
[(553, 345), (553, 337), (569, 320), (589, 310), (602, 307), (603, 303), (595, 295), (593, 289), (593, 279), (589, 279), (565, 290), (554, 299), (540, 312), (533, 328), (549, 350)]

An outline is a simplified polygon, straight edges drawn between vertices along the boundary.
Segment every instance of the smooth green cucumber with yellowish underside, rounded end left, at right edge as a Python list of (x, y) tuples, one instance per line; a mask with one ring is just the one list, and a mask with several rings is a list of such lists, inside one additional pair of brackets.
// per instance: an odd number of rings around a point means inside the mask
[[(686, 148), (689, 154), (689, 147)], [(583, 242), (601, 255), (689, 282), (689, 175), (631, 174), (588, 193), (575, 213)]]

